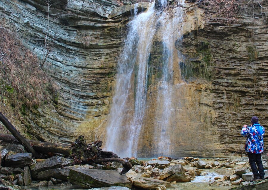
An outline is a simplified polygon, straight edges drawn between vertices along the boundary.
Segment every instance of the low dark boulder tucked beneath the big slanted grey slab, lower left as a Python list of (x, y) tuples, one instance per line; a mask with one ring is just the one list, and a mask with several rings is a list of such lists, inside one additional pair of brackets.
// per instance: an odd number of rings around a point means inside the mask
[(38, 173), (37, 178), (39, 180), (49, 180), (51, 177), (61, 180), (67, 180), (67, 177), (69, 176), (69, 169), (49, 169)]

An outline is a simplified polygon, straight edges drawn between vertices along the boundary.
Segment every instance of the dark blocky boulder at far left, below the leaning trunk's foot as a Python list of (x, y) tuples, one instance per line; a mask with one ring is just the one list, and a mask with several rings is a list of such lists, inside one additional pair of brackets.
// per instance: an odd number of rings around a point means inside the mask
[(6, 157), (6, 166), (13, 168), (24, 168), (32, 163), (32, 154), (31, 153), (18, 153), (8, 155)]

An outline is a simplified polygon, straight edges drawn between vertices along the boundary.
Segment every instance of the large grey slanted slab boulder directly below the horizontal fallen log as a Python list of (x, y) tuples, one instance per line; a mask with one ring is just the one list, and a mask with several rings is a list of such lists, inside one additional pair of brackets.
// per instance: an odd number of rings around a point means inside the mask
[(46, 159), (43, 162), (38, 162), (33, 164), (31, 168), (31, 174), (34, 179), (37, 179), (38, 173), (49, 170), (49, 169), (56, 169), (63, 166), (68, 166), (72, 164), (71, 159), (63, 158), (61, 156), (53, 156), (51, 158)]

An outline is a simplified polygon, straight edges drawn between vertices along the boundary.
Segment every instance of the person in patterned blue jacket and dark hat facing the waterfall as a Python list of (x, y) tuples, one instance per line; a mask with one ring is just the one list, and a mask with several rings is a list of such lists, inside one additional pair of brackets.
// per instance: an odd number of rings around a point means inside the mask
[[(252, 125), (244, 125), (241, 135), (246, 136), (246, 152), (248, 153), (248, 162), (254, 175), (253, 180), (264, 179), (264, 169), (261, 162), (261, 153), (264, 150), (263, 136), (265, 129), (259, 123), (259, 118), (253, 116), (251, 118)], [(256, 167), (258, 166), (258, 169)]]

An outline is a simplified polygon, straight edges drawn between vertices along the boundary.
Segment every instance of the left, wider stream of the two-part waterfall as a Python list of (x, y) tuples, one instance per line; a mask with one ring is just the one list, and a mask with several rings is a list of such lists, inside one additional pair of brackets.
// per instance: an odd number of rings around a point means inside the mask
[[(106, 148), (120, 156), (136, 156), (136, 144), (146, 106), (147, 62), (156, 30), (154, 12), (152, 3), (147, 12), (134, 15), (118, 64)], [(128, 136), (127, 142), (122, 140), (124, 135)]]

